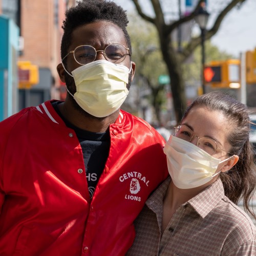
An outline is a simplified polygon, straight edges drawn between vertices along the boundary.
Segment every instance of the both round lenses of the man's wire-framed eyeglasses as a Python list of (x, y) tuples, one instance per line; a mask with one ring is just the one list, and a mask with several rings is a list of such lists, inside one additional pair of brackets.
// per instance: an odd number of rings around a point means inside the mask
[[(81, 65), (86, 65), (96, 59), (97, 52), (92, 46), (79, 46), (74, 51), (74, 57)], [(107, 60), (119, 63), (126, 56), (126, 48), (119, 44), (109, 45), (104, 50)]]

